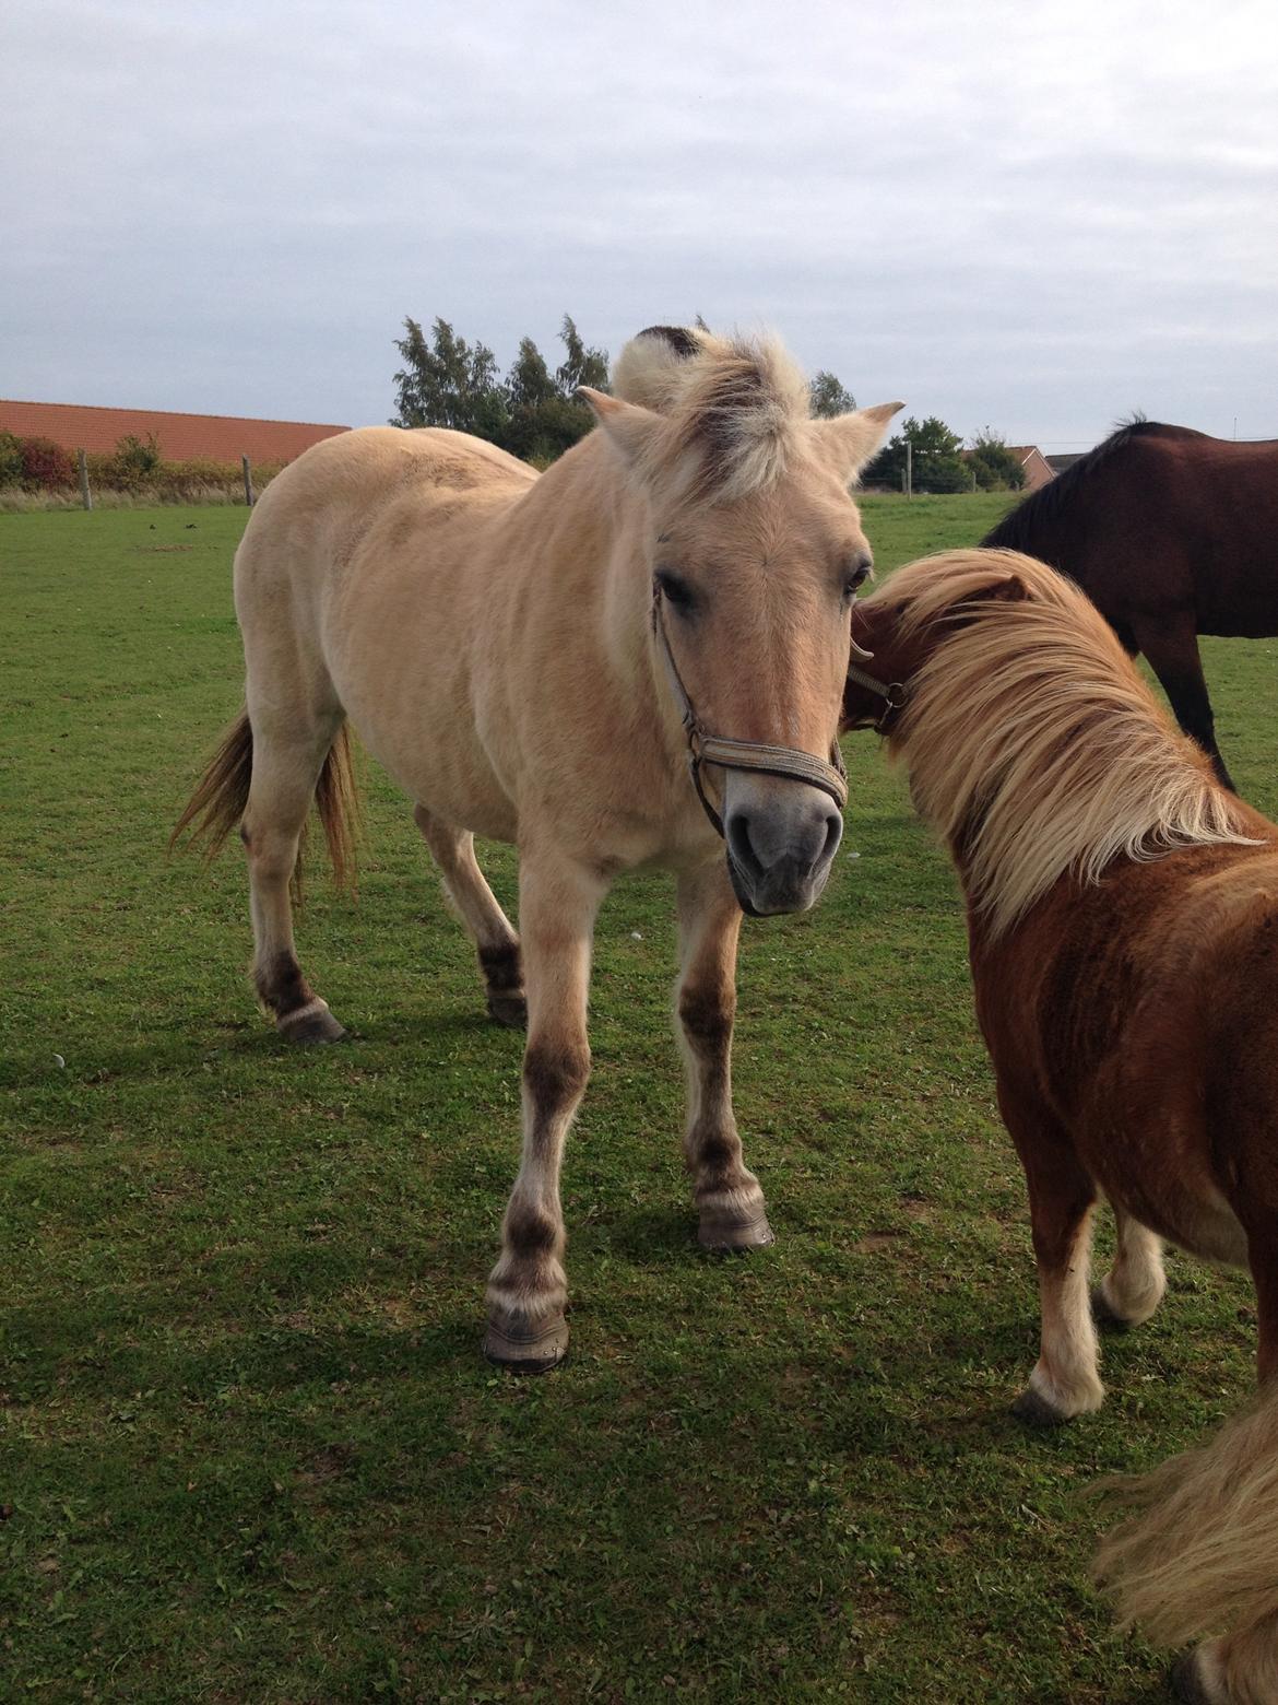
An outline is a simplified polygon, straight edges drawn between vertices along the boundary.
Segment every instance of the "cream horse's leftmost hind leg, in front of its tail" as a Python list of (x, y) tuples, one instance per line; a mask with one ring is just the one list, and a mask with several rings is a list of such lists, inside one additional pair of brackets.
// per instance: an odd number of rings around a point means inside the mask
[[(341, 742), (341, 750), (334, 745)], [(346, 766), (341, 713), (279, 726), (254, 723), (252, 781), (240, 837), (249, 854), (257, 996), (290, 1042), (339, 1042), (346, 1032), (302, 975), (293, 946), (291, 881), (307, 813), (331, 766)], [(336, 757), (334, 757), (336, 754)], [(329, 827), (325, 824), (325, 827)]]

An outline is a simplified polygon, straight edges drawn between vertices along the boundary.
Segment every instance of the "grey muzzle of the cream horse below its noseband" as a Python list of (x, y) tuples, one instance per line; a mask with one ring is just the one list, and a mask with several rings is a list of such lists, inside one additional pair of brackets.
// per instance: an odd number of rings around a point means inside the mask
[(743, 912), (770, 917), (816, 904), (843, 835), (843, 817), (826, 791), (728, 771), (722, 824)]

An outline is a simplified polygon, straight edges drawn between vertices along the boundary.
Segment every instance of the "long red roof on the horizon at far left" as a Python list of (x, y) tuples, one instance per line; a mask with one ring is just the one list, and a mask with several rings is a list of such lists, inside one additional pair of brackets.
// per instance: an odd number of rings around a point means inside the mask
[(208, 457), (213, 462), (291, 462), (320, 438), (349, 426), (315, 426), (310, 421), (252, 421), (233, 414), (167, 414), (158, 409), (95, 409), (78, 402), (5, 402), (0, 431), (19, 438), (53, 438), (66, 450), (114, 450), (133, 435), (143, 443), (153, 433), (170, 462)]

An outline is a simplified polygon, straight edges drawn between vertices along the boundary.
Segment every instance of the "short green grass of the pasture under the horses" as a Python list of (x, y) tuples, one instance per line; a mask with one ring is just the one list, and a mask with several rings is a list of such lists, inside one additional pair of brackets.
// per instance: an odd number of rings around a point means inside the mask
[[(864, 512), (883, 569), (1002, 506)], [(1104, 1345), (1101, 1415), (1009, 1417), (1024, 1188), (949, 864), (878, 740), (847, 742), (825, 902), (745, 928), (736, 1107), (775, 1246), (695, 1246), (671, 885), (624, 880), (564, 1182), (573, 1350), (508, 1378), (479, 1338), (520, 1038), (407, 803), (366, 766), (358, 904), (312, 864), (337, 1049), (254, 1006), (239, 846), (165, 859), (240, 701), (242, 525), (0, 517), (0, 1696), (1164, 1698), (1087, 1582), (1082, 1494), (1246, 1396), (1251, 1291), (1172, 1257), (1157, 1320)], [(1269, 812), (1275, 650), (1206, 644)], [(484, 864), (513, 905), (513, 854)]]

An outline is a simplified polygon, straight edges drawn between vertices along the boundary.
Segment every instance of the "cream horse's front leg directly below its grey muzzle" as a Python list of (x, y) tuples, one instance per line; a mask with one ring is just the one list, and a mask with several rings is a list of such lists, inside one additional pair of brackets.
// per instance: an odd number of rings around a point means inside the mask
[(733, 1117), (733, 1016), (741, 907), (722, 859), (678, 881), (678, 1023), (688, 1079), (683, 1154), (700, 1214), (697, 1238), (707, 1250), (772, 1243), (758, 1178), (741, 1158)]

